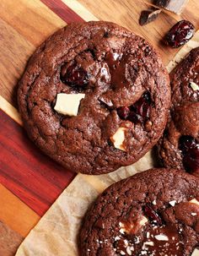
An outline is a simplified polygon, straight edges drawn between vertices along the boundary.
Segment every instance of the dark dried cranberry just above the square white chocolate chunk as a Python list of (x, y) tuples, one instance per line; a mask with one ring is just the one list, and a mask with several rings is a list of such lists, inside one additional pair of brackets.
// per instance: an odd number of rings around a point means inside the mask
[(61, 68), (61, 80), (64, 84), (68, 84), (72, 87), (83, 87), (89, 83), (89, 77), (87, 72), (76, 64), (69, 66), (68, 68), (64, 64)]

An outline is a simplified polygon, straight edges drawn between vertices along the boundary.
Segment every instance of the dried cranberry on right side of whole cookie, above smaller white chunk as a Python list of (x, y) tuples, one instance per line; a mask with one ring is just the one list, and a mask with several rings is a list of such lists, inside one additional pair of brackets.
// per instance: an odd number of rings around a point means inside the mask
[(151, 96), (147, 91), (132, 106), (119, 107), (117, 113), (121, 119), (129, 120), (132, 123), (143, 123), (149, 117), (150, 106)]

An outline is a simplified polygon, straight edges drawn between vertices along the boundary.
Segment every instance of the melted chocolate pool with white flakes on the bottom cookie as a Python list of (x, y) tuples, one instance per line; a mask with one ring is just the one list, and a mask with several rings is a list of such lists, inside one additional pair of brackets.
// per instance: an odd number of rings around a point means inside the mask
[[(167, 223), (163, 226), (155, 226), (148, 223), (143, 226), (143, 235), (137, 228), (132, 230), (131, 226), (134, 224), (122, 223), (123, 228), (120, 229), (120, 234), (115, 237), (113, 245), (117, 255), (183, 255), (184, 243), (180, 239), (180, 231), (174, 224)], [(141, 228), (141, 226), (139, 227)]]

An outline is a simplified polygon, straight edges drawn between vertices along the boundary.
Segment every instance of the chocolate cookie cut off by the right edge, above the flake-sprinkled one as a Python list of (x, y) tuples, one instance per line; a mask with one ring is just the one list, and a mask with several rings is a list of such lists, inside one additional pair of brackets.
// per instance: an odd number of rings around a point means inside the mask
[(199, 48), (170, 74), (172, 105), (159, 156), (164, 166), (199, 176)]

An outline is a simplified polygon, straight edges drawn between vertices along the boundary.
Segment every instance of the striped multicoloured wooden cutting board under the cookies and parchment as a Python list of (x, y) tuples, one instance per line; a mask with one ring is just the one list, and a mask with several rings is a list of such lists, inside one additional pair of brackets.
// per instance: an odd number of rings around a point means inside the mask
[(199, 2), (190, 0), (181, 16), (164, 13), (141, 27), (138, 18), (147, 7), (139, 0), (1, 0), (0, 255), (13, 255), (21, 239), (75, 177), (41, 154), (22, 127), (16, 111), (16, 84), (28, 58), (41, 41), (67, 23), (104, 19), (145, 37), (167, 64), (178, 50), (164, 46), (161, 39), (180, 19), (190, 20), (198, 29)]

